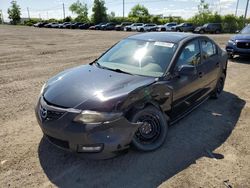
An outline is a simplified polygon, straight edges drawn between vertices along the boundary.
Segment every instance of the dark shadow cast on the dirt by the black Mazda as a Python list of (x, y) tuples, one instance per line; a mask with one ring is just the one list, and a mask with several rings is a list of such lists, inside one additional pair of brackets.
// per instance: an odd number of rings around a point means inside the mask
[(49, 180), (59, 187), (156, 187), (201, 157), (213, 153), (235, 128), (245, 101), (223, 92), (171, 126), (165, 144), (154, 152), (129, 150), (109, 160), (86, 160), (41, 139), (38, 155)]

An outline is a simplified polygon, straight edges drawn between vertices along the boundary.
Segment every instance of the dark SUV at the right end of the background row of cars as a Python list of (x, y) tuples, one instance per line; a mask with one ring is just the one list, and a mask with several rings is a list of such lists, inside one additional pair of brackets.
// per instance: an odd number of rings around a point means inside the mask
[(222, 32), (222, 24), (220, 23), (207, 23), (203, 26), (196, 27), (194, 30), (195, 33), (216, 33), (219, 34)]

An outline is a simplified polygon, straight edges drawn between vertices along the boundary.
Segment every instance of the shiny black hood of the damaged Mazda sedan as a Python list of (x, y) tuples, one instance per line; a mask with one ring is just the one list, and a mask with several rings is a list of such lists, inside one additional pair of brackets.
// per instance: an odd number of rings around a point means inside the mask
[(45, 86), (43, 96), (53, 105), (74, 108), (89, 99), (101, 103), (120, 98), (154, 82), (153, 77), (118, 73), (95, 65), (83, 65), (51, 78)]

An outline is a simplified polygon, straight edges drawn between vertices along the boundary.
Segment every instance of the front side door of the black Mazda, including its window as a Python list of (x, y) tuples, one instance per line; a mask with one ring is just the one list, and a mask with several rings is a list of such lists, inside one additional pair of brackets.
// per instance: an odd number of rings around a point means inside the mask
[(193, 40), (182, 48), (182, 51), (176, 61), (174, 78), (170, 81), (169, 85), (173, 88), (173, 104), (171, 111), (171, 118), (176, 119), (183, 115), (187, 110), (196, 104), (200, 98), (202, 85), (199, 80), (198, 73), (182, 75), (178, 73), (183, 65), (196, 66), (200, 64), (201, 51), (199, 40)]

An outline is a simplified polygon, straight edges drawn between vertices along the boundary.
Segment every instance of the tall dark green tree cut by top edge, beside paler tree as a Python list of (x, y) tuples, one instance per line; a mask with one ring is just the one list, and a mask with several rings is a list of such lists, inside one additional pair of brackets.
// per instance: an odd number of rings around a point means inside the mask
[(92, 8), (92, 11), (92, 21), (95, 24), (108, 20), (107, 8), (105, 7), (104, 0), (94, 0), (94, 6)]

